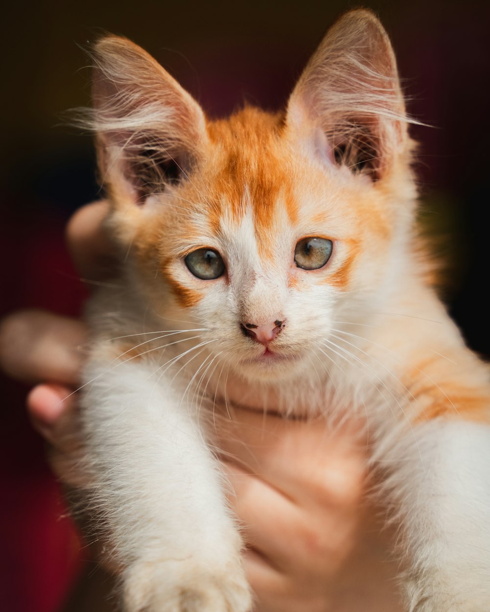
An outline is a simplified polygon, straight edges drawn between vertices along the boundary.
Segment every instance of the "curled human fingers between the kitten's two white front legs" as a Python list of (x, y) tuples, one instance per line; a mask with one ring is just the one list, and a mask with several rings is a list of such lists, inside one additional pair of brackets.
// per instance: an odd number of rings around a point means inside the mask
[(363, 520), (360, 427), (236, 411), (219, 433), (257, 610), (330, 610)]

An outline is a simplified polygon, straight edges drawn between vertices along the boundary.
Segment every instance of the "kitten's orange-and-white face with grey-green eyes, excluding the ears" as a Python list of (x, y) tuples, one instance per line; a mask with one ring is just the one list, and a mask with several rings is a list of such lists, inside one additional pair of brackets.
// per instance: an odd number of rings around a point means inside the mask
[(345, 318), (380, 308), (388, 192), (260, 111), (208, 133), (202, 159), (141, 207), (133, 245), (151, 309), (205, 329), (189, 335), (246, 378), (311, 369)]

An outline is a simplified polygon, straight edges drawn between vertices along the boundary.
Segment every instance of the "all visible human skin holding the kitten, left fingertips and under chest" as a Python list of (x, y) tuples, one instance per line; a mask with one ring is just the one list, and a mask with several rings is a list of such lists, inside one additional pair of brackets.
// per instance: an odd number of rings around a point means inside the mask
[[(80, 275), (103, 281), (111, 244), (101, 222), (107, 203), (83, 207), (67, 228)], [(14, 313), (0, 328), (0, 366), (35, 386), (32, 424), (50, 442), (58, 477), (83, 487), (74, 469), (77, 394), (86, 330), (81, 321), (40, 311)], [(366, 501), (363, 424), (286, 420), (236, 409), (220, 419), (222, 468), (246, 547), (254, 612), (401, 612), (390, 533)], [(116, 571), (115, 569), (112, 569)]]

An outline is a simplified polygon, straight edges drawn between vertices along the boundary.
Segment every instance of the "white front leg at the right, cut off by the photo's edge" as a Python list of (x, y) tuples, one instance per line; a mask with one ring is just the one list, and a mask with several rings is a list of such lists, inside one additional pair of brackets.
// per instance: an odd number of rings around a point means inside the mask
[(490, 612), (490, 427), (437, 420), (392, 448), (387, 485), (412, 561), (408, 609)]

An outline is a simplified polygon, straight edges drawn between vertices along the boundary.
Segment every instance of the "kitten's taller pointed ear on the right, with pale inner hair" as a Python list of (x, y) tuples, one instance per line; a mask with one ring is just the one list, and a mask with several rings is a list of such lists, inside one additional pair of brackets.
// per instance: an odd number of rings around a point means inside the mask
[(327, 162), (380, 179), (408, 141), (407, 117), (388, 35), (369, 10), (352, 10), (327, 32), (288, 102), (287, 122)]

